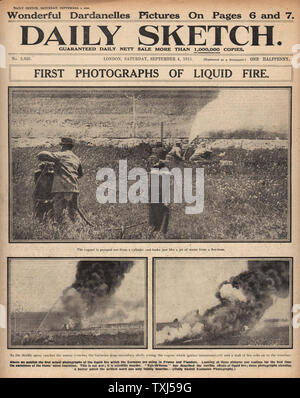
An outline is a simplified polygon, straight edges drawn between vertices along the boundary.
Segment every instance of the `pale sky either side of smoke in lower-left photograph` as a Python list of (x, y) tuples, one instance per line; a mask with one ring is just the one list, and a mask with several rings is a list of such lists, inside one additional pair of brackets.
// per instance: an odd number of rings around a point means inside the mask
[[(12, 259), (10, 263), (10, 306), (14, 311), (48, 311), (63, 290), (75, 280), (78, 259)], [(134, 261), (116, 291), (115, 298), (139, 301), (145, 297), (145, 263)], [(54, 310), (60, 310), (60, 303)]]

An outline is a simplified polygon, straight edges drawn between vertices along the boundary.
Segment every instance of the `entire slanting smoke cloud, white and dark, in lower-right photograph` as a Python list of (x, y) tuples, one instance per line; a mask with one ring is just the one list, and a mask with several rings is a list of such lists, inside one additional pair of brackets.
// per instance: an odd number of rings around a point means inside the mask
[(157, 343), (194, 337), (215, 341), (226, 335), (241, 335), (262, 318), (274, 297), (288, 295), (289, 261), (248, 261), (247, 271), (219, 286), (218, 305), (203, 315), (192, 311), (172, 327), (163, 328), (157, 333)]

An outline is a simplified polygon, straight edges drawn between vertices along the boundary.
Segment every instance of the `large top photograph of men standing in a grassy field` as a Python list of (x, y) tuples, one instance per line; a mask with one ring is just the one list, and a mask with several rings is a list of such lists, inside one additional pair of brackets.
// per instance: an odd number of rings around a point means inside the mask
[(290, 87), (8, 95), (10, 242), (290, 241)]

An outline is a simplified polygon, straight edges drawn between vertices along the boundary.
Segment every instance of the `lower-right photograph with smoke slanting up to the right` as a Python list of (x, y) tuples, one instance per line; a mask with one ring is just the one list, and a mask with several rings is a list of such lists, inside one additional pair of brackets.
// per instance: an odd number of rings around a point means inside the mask
[(153, 348), (292, 348), (292, 258), (154, 258)]

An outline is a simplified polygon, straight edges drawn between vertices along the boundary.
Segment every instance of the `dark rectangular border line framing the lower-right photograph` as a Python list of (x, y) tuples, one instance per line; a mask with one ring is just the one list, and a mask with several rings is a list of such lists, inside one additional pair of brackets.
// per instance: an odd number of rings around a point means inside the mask
[[(157, 346), (156, 345), (156, 262), (159, 260), (222, 260), (222, 259), (255, 259), (255, 260), (288, 260), (290, 263), (290, 316), (289, 316), (289, 345), (274, 346)], [(152, 349), (153, 350), (291, 350), (294, 348), (294, 333), (292, 327), (292, 308), (294, 305), (294, 257), (153, 257), (152, 258)]]

